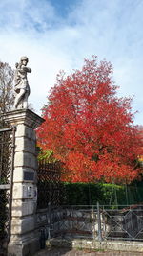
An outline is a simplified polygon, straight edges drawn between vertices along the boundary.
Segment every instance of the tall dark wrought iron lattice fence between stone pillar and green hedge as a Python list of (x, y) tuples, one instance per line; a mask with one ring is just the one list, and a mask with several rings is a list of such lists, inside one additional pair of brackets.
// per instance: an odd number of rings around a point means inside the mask
[(37, 171), (37, 207), (43, 209), (51, 205), (59, 205), (63, 198), (63, 185), (61, 182), (61, 167), (58, 162), (47, 163), (46, 160), (38, 162)]

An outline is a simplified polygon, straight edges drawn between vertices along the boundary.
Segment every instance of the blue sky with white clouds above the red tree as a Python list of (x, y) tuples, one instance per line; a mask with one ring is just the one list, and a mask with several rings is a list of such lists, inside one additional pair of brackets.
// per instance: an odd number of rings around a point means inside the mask
[(0, 60), (14, 69), (28, 56), (37, 114), (57, 73), (92, 55), (112, 63), (118, 96), (133, 97), (134, 124), (143, 125), (142, 0), (0, 0)]

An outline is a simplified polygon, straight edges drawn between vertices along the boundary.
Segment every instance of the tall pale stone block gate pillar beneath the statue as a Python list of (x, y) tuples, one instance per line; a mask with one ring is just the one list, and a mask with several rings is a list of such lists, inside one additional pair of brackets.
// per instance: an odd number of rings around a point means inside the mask
[(39, 243), (34, 234), (36, 211), (36, 138), (34, 129), (44, 119), (29, 109), (10, 111), (5, 121), (16, 126), (11, 208), (11, 232), (8, 252), (16, 256), (33, 255)]

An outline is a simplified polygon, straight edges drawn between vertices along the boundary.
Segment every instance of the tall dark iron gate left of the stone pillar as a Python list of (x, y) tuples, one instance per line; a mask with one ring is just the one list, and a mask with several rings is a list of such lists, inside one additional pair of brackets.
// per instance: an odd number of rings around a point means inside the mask
[(0, 255), (10, 241), (15, 127), (0, 129)]

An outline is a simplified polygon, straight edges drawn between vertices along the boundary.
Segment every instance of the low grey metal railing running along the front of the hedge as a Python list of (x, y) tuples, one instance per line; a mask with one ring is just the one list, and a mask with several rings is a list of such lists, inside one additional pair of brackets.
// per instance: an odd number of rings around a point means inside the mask
[(49, 205), (48, 229), (51, 238), (143, 241), (143, 205)]

